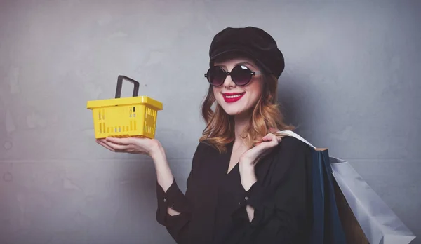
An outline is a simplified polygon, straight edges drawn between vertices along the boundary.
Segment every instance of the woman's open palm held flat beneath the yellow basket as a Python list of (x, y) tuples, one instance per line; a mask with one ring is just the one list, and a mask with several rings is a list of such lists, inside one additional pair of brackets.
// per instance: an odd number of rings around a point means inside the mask
[(110, 151), (129, 154), (147, 154), (153, 156), (156, 151), (160, 151), (161, 149), (161, 143), (158, 140), (140, 137), (107, 137), (98, 139), (96, 142)]

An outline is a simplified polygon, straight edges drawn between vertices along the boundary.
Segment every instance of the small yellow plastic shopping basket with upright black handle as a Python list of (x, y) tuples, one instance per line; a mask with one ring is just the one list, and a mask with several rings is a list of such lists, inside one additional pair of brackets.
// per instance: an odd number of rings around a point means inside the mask
[[(134, 84), (133, 97), (121, 98), (123, 79)], [(92, 110), (95, 138), (155, 137), (156, 115), (162, 103), (150, 97), (138, 97), (139, 82), (127, 76), (117, 79), (115, 99), (88, 101)]]

